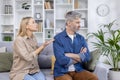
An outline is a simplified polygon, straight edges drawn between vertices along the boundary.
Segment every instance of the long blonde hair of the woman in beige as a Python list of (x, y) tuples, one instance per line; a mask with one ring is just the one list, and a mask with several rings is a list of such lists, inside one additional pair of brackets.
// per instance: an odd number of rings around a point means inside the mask
[(22, 18), (21, 23), (20, 23), (20, 29), (19, 29), (19, 32), (18, 32), (18, 36), (24, 37), (24, 36), (27, 35), (26, 26), (28, 25), (30, 19), (32, 19), (32, 17), (24, 17), (24, 18)]

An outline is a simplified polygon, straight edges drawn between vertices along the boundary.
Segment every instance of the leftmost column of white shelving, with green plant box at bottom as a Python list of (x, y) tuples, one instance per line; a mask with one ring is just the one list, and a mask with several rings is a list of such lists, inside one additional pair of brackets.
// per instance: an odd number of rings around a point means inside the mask
[(12, 0), (0, 3), (0, 41), (12, 41), (14, 36), (14, 11)]

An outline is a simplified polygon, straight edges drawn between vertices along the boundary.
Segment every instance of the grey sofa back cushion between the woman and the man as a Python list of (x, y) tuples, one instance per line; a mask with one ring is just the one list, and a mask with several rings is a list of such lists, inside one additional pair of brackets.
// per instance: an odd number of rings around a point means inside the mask
[(38, 64), (41, 69), (51, 68), (52, 55), (53, 55), (53, 44), (51, 43), (38, 56)]

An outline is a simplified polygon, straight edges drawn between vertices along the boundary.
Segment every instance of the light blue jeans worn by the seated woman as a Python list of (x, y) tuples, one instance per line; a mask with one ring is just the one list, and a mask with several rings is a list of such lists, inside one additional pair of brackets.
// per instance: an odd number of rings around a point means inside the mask
[(35, 74), (27, 74), (24, 77), (24, 80), (46, 80), (44, 74), (40, 71)]

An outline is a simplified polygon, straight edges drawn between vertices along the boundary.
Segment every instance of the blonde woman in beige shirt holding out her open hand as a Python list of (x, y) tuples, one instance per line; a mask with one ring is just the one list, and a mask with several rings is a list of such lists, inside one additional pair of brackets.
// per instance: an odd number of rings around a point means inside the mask
[(33, 32), (37, 31), (37, 24), (32, 17), (25, 17), (20, 24), (20, 30), (13, 44), (13, 66), (10, 71), (11, 80), (45, 80), (40, 71), (37, 55), (54, 40), (37, 46)]

